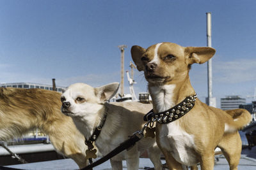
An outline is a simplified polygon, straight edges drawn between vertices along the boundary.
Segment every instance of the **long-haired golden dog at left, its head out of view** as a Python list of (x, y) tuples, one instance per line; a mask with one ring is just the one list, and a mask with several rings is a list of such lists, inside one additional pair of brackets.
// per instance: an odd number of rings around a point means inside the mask
[(40, 89), (0, 88), (0, 141), (38, 128), (49, 135), (57, 152), (86, 166), (84, 136), (72, 118), (61, 113), (61, 94)]

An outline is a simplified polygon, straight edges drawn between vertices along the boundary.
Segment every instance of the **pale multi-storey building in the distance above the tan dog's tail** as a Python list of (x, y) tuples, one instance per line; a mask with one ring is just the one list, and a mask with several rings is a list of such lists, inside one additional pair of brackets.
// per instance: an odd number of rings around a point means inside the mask
[(245, 104), (246, 99), (240, 96), (226, 96), (220, 99), (222, 110), (233, 110), (239, 108), (239, 105)]

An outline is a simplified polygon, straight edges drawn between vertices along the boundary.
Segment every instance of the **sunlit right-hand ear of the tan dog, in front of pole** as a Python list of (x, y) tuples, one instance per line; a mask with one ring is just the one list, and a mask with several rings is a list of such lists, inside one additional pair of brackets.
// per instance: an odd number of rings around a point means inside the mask
[(215, 49), (211, 47), (188, 46), (185, 48), (188, 64), (203, 64), (204, 62), (207, 62), (207, 60), (211, 59), (215, 52)]

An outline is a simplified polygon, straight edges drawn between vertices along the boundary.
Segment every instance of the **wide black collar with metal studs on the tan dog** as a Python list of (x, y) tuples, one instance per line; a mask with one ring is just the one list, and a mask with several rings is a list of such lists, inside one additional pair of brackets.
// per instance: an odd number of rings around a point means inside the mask
[(196, 98), (196, 94), (188, 96), (173, 108), (160, 113), (154, 113), (153, 110), (150, 110), (147, 115), (145, 115), (144, 120), (148, 121), (156, 119), (159, 124), (168, 124), (173, 122), (186, 115), (186, 113), (195, 106)]

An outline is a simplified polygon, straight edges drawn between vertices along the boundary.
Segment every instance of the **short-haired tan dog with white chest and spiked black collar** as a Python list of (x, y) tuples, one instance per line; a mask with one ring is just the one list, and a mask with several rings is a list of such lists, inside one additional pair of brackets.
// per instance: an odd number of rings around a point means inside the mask
[[(202, 64), (214, 53), (213, 48), (183, 47), (175, 43), (158, 43), (147, 50), (132, 46), (132, 59), (138, 70), (144, 71), (148, 81), (154, 113), (169, 110), (186, 97), (193, 96), (195, 90), (189, 81), (191, 64)], [(241, 138), (237, 129), (250, 122), (250, 113), (246, 110), (226, 113), (199, 99), (193, 103), (195, 106), (186, 115), (168, 124), (163, 124), (166, 120), (160, 119), (159, 122), (163, 121), (156, 125), (157, 145), (168, 166), (181, 169), (181, 164), (184, 164), (196, 169), (194, 165), (200, 162), (201, 169), (213, 169), (214, 149), (218, 146), (230, 169), (237, 169), (241, 156)], [(173, 112), (179, 117), (180, 111)]]

